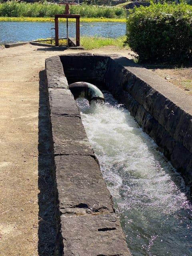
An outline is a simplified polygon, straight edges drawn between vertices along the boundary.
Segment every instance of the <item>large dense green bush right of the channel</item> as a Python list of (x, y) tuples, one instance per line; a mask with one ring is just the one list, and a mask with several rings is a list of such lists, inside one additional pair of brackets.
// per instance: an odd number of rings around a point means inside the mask
[(192, 60), (192, 6), (153, 4), (134, 8), (127, 18), (127, 40), (139, 62)]

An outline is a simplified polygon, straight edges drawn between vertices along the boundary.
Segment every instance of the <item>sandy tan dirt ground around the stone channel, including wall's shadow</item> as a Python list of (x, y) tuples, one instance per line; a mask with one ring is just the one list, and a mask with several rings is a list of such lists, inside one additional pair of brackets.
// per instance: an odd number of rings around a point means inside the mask
[[(51, 256), (54, 250), (54, 194), (45, 59), (83, 50), (52, 51), (26, 44), (0, 49), (0, 256)], [(128, 50), (90, 50), (120, 54)], [(192, 94), (192, 68), (148, 67)], [(179, 90), (179, 89), (178, 89)]]

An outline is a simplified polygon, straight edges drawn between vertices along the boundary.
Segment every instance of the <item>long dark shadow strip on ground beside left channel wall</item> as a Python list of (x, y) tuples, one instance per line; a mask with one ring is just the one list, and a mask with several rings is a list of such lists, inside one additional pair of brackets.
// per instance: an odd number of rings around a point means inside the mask
[(39, 72), (38, 112), (38, 254), (53, 256), (56, 240), (54, 217), (54, 179), (51, 170), (50, 128), (48, 122), (47, 90), (44, 70)]

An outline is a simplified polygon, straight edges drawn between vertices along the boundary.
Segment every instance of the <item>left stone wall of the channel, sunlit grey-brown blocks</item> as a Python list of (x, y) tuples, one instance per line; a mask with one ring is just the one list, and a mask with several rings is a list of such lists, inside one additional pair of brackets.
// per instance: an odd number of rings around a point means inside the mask
[(56, 192), (55, 255), (130, 256), (59, 56), (46, 59), (46, 84)]

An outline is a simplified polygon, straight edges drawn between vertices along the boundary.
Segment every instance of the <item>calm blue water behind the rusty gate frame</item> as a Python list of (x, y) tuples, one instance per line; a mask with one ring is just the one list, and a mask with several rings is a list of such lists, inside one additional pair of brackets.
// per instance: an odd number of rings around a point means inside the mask
[[(0, 44), (30, 41), (55, 36), (54, 22), (0, 22)], [(124, 35), (124, 22), (80, 22), (80, 36), (103, 36), (116, 38)], [(76, 23), (69, 22), (69, 37), (76, 35)], [(66, 37), (66, 22), (59, 22), (59, 36)]]

